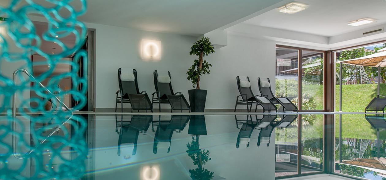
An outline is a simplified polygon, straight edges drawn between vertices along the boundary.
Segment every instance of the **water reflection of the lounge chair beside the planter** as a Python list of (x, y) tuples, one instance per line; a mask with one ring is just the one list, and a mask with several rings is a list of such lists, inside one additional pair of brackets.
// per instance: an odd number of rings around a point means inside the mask
[(171, 119), (168, 121), (162, 121), (161, 116), (159, 117), (159, 121), (153, 121), (153, 124), (157, 124), (153, 144), (153, 153), (156, 154), (159, 150), (169, 153), (173, 132), (177, 130), (178, 133), (181, 133), (181, 131), (185, 128), (186, 123), (189, 122), (189, 119), (189, 115), (172, 115)]

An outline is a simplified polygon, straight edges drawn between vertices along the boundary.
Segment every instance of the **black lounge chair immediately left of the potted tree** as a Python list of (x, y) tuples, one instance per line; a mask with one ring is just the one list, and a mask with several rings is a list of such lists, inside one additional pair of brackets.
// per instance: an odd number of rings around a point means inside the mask
[[(171, 86), (170, 72), (165, 75), (158, 75), (157, 70), (154, 71), (154, 86), (156, 92), (152, 93), (152, 103), (158, 103), (159, 112), (161, 112), (161, 104), (170, 104), (171, 112), (173, 110), (189, 110), (190, 106), (181, 92), (173, 92)], [(178, 94), (178, 95), (177, 95)], [(154, 95), (157, 97), (155, 98)]]

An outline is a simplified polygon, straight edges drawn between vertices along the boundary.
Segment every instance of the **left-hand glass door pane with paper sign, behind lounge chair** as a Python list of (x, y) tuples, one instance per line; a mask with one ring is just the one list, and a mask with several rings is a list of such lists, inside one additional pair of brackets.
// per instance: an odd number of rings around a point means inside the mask
[(299, 50), (291, 48), (276, 48), (276, 96), (288, 97), (298, 106)]

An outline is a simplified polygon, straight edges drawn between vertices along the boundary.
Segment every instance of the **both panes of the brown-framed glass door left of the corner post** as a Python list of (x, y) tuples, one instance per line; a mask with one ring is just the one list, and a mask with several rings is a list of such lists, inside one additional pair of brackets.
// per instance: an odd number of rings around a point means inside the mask
[(324, 58), (323, 51), (276, 47), (276, 96), (288, 97), (299, 110), (324, 110)]

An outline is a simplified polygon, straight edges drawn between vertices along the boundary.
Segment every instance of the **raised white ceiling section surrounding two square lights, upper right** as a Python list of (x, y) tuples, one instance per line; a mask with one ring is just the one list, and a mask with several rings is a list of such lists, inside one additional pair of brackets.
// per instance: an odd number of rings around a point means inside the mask
[[(298, 0), (308, 8), (295, 14), (280, 13), (276, 8), (244, 23), (331, 37), (386, 23), (385, 0)], [(349, 26), (360, 18), (376, 22)]]

